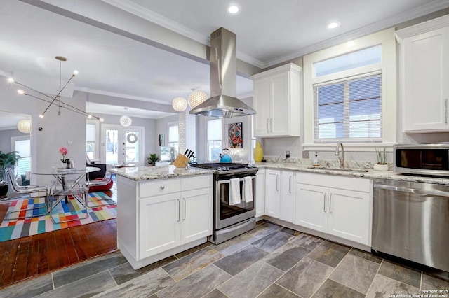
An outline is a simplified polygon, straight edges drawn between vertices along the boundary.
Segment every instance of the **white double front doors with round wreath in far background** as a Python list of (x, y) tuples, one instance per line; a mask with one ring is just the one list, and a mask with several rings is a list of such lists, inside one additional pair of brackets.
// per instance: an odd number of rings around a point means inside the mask
[(145, 128), (102, 125), (101, 160), (106, 164), (145, 164)]

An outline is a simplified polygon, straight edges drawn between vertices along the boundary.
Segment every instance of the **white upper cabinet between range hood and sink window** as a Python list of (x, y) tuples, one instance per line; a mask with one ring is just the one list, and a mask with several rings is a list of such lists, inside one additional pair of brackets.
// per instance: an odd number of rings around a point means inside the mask
[(290, 63), (250, 77), (255, 136), (300, 136), (301, 71)]

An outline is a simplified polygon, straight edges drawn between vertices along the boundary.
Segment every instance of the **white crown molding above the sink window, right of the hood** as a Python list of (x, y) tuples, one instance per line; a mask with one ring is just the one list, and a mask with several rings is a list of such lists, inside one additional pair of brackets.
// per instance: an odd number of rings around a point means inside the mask
[(311, 52), (317, 52), (319, 50), (323, 50), (325, 48), (329, 48), (333, 45), (338, 45), (340, 43), (344, 43), (346, 41), (351, 41), (354, 38), (360, 38), (362, 36), (366, 36), (368, 34), (373, 34), (374, 32), (387, 29), (389, 27), (394, 27), (397, 24), (401, 24), (402, 22), (407, 22), (409, 20), (413, 20), (417, 17), (422, 17), (423, 15), (428, 15), (429, 13), (434, 13), (438, 10), (442, 10), (445, 8), (449, 8), (449, 2), (447, 0), (436, 0), (430, 3), (424, 4), (420, 7), (414, 8), (412, 10), (408, 10), (403, 13), (399, 13), (394, 17), (389, 17), (387, 19), (381, 20), (380, 22), (375, 22), (373, 24), (369, 24), (368, 26), (361, 27), (360, 29), (356, 29), (350, 31), (346, 34), (342, 34), (339, 36), (335, 36), (334, 38), (327, 39), (326, 41), (322, 41), (320, 43), (315, 43), (314, 45), (309, 45), (308, 47), (302, 48), (297, 52), (290, 53), (288, 55), (275, 57), (273, 59), (269, 59), (264, 62), (263, 68), (267, 68), (269, 66), (273, 66), (276, 64), (280, 64), (282, 62), (288, 61), (290, 59), (294, 59), (297, 57), (301, 57)]

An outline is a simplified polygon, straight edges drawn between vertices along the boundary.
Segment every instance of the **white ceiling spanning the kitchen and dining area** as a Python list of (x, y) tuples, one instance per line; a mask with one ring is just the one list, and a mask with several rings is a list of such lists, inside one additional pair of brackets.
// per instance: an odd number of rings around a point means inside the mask
[[(241, 12), (229, 15), (226, 8), (230, 3), (238, 4)], [(210, 33), (225, 27), (236, 34), (237, 57), (262, 69), (449, 7), (449, 0), (273, 3), (267, 0), (0, 0), (0, 26), (4, 28), (0, 31), (0, 75), (13, 74), (19, 82), (38, 90), (49, 92), (48, 85), (58, 90), (59, 62), (54, 57), (62, 55), (67, 57), (67, 62), (62, 64), (62, 80), (73, 69), (79, 71), (74, 90), (123, 98), (117, 106), (116, 103), (88, 103), (88, 111), (121, 115), (124, 106), (131, 106), (128, 115), (161, 118), (170, 115), (167, 112), (174, 97), (187, 97), (192, 88), (199, 87), (206, 93), (210, 89), (205, 57), (185, 54), (187, 42), (182, 38), (178, 38), (179, 47), (174, 48), (173, 35), (165, 31), (164, 36), (163, 30), (196, 41), (201, 52), (208, 45)], [(327, 30), (330, 20), (341, 22), (340, 28)], [(127, 27), (133, 22), (146, 23), (142, 23), (139, 32)], [(156, 46), (139, 38), (156, 34), (154, 24), (159, 24), (162, 32), (153, 44)], [(170, 47), (161, 46), (164, 41)], [(250, 96), (252, 87), (250, 79), (237, 76), (238, 97)], [(163, 104), (166, 109), (155, 108), (151, 113), (138, 111), (136, 103), (141, 101)]]

